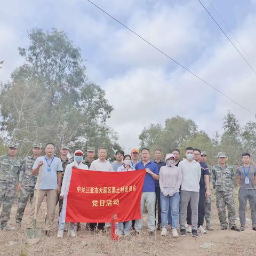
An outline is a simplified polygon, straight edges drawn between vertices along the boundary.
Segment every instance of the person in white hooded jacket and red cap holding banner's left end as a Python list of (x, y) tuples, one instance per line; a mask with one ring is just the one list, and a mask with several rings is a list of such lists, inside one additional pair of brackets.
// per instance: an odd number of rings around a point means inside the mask
[[(59, 227), (58, 227), (58, 234), (57, 234), (58, 238), (63, 237), (63, 230), (65, 228), (67, 195), (68, 195), (73, 167), (77, 169), (83, 169), (83, 170), (88, 169), (88, 166), (86, 164), (83, 164), (83, 156), (84, 156), (84, 153), (82, 150), (76, 150), (74, 154), (74, 162), (66, 166), (66, 170), (64, 173), (63, 181), (62, 181), (61, 191), (60, 191), (60, 199), (63, 200), (63, 206), (62, 206), (60, 218), (59, 218)], [(68, 235), (70, 235), (71, 237), (76, 237), (76, 228), (75, 228), (74, 222), (69, 222)]]

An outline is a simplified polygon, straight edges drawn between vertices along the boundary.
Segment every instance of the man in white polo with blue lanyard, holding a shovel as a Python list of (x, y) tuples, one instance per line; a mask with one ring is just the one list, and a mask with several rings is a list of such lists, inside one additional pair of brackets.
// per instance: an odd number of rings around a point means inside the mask
[[(50, 235), (50, 230), (53, 225), (55, 216), (55, 205), (57, 195), (60, 194), (61, 181), (62, 181), (62, 163), (60, 158), (54, 156), (55, 147), (53, 143), (47, 143), (45, 146), (45, 155), (36, 158), (36, 161), (32, 167), (31, 173), (37, 175), (39, 167), (41, 169), (41, 183), (39, 190), (39, 198), (37, 205), (37, 213), (43, 202), (45, 196), (47, 196), (47, 216), (46, 216), (46, 227), (45, 234)], [(37, 189), (38, 179), (36, 182), (35, 190)], [(35, 213), (35, 201), (36, 201), (36, 191), (33, 198), (33, 203), (31, 211), (29, 214), (29, 228), (33, 227), (33, 219)]]

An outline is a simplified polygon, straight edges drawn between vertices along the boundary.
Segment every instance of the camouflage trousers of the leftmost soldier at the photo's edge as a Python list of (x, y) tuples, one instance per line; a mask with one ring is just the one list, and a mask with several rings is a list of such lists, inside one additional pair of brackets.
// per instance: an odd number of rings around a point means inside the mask
[(0, 215), (0, 225), (5, 226), (10, 220), (10, 214), (12, 209), (12, 203), (15, 197), (16, 188), (3, 186), (0, 187), (0, 207), (2, 207), (2, 212)]

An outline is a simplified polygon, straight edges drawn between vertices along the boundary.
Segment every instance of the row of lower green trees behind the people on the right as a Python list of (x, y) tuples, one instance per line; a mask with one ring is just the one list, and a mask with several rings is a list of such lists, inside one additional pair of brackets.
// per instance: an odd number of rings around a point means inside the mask
[(175, 116), (166, 119), (165, 126), (150, 124), (140, 134), (140, 146), (148, 147), (153, 156), (156, 148), (163, 154), (171, 152), (173, 148), (180, 149), (180, 157), (185, 157), (185, 149), (194, 147), (206, 151), (207, 162), (210, 165), (217, 163), (217, 154), (220, 151), (228, 155), (228, 163), (237, 165), (241, 163), (241, 155), (249, 152), (253, 161), (256, 158), (256, 122), (248, 122), (242, 127), (235, 115), (228, 111), (223, 118), (223, 134), (215, 132), (213, 138), (198, 127), (191, 119)]

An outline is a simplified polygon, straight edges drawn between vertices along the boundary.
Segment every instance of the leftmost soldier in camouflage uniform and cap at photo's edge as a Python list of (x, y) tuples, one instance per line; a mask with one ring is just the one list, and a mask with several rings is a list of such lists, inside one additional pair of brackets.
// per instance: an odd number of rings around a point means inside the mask
[(7, 155), (0, 156), (0, 228), (13, 230), (7, 226), (10, 219), (13, 199), (23, 161), (17, 157), (18, 145), (11, 143)]

